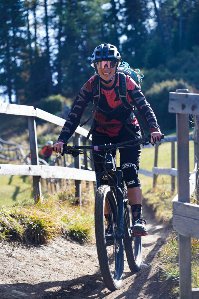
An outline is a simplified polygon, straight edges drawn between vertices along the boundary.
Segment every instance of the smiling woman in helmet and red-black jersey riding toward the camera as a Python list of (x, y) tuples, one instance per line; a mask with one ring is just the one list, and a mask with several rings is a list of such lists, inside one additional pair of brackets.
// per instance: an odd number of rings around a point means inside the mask
[[(95, 48), (91, 57), (91, 66), (95, 69), (93, 75), (80, 89), (68, 118), (61, 130), (58, 141), (54, 144), (55, 152), (62, 153), (63, 145), (75, 132), (80, 123), (81, 116), (87, 104), (93, 100), (94, 79), (99, 77), (101, 93), (98, 106), (94, 109), (94, 123), (92, 125), (92, 145), (119, 143), (141, 137), (140, 127), (135, 115), (130, 109), (125, 108), (119, 99), (119, 75), (118, 66), (121, 56), (117, 48), (110, 44), (101, 44)], [(139, 86), (130, 76), (126, 76), (127, 99), (134, 105), (149, 128), (151, 143), (160, 141), (161, 131), (150, 104), (146, 101)], [(133, 233), (137, 236), (147, 235), (146, 221), (141, 219), (142, 190), (138, 179), (141, 146), (126, 147), (119, 149), (120, 168), (123, 171), (124, 181), (127, 185), (127, 193), (133, 215)], [(104, 152), (93, 151), (95, 172), (103, 171), (102, 157)], [(113, 152), (113, 156), (115, 153)], [(106, 184), (103, 180), (103, 184)], [(106, 207), (105, 207), (105, 210)], [(106, 211), (105, 211), (106, 213)], [(105, 215), (107, 224), (110, 224), (110, 215)]]

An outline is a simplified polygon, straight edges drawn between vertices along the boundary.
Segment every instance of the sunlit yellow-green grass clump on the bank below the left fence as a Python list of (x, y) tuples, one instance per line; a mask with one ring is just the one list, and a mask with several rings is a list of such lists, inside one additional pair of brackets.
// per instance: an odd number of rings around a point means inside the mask
[(94, 220), (65, 200), (44, 199), (37, 205), (0, 208), (0, 240), (45, 244), (56, 235), (84, 243), (93, 239)]

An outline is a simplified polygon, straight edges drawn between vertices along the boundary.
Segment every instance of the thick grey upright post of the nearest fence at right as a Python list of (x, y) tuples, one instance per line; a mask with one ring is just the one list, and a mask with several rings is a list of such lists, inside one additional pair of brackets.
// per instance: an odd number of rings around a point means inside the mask
[[(176, 114), (178, 157), (178, 200), (189, 202), (189, 115)], [(192, 298), (191, 238), (178, 234), (180, 298)]]

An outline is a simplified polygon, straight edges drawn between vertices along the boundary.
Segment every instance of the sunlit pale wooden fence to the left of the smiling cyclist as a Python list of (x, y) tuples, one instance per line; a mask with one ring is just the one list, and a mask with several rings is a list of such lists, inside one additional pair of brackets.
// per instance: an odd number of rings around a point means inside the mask
[[(37, 202), (38, 199), (42, 198), (40, 181), (41, 178), (74, 179), (76, 187), (76, 197), (80, 197), (81, 195), (81, 180), (95, 181), (93, 164), (91, 163), (93, 170), (90, 171), (87, 170), (87, 161), (84, 161), (85, 169), (82, 170), (80, 155), (74, 159), (75, 168), (39, 165), (35, 118), (40, 118), (61, 127), (65, 123), (64, 119), (45, 112), (41, 109), (34, 108), (33, 106), (15, 105), (8, 103), (0, 103), (0, 112), (4, 114), (27, 116), (32, 165), (0, 164), (0, 175), (33, 176), (33, 193), (35, 202)], [(75, 130), (74, 143), (80, 145), (80, 135), (83, 136), (82, 138), (84, 138), (84, 143), (86, 143), (87, 134), (88, 131), (86, 129), (78, 126)]]

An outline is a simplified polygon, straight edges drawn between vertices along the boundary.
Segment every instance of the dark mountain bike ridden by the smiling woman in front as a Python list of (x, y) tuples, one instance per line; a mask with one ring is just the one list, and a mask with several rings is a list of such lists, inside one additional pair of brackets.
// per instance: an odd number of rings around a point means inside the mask
[[(164, 135), (161, 136), (161, 139)], [(121, 147), (135, 147), (150, 143), (150, 137), (138, 138), (118, 144), (100, 146), (64, 146), (64, 153), (77, 155), (84, 153), (81, 149), (104, 150), (104, 171), (96, 173), (95, 195), (95, 238), (98, 260), (105, 285), (110, 291), (121, 288), (124, 272), (124, 252), (126, 252), (129, 269), (137, 272), (141, 269), (141, 237), (132, 233), (133, 219), (124, 185), (122, 171), (116, 167), (111, 151)], [(101, 184), (102, 178), (107, 184)], [(107, 220), (106, 216), (109, 216)]]

